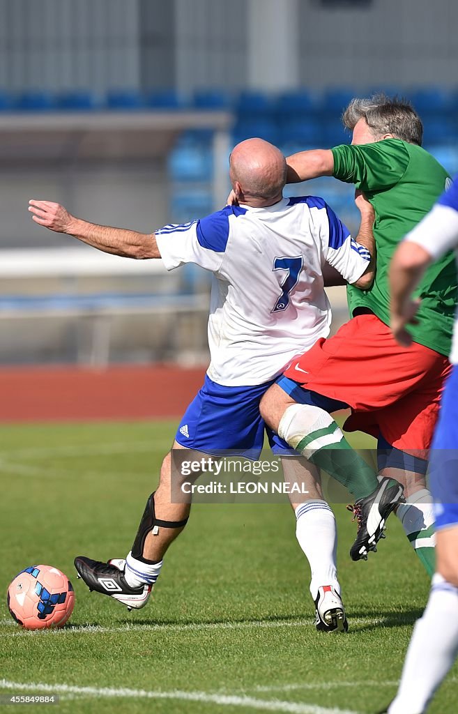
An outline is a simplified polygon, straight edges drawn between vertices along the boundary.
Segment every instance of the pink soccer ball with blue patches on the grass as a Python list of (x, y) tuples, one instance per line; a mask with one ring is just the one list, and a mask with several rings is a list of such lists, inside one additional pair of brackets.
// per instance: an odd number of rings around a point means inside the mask
[(8, 588), (11, 616), (26, 630), (62, 627), (73, 612), (73, 585), (51, 565), (31, 565)]

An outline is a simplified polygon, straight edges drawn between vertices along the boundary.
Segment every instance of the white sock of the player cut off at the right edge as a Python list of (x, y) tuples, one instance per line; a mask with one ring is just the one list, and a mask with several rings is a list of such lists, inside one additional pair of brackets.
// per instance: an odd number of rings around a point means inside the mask
[(458, 588), (436, 574), (426, 609), (415, 623), (389, 714), (422, 714), (457, 653)]

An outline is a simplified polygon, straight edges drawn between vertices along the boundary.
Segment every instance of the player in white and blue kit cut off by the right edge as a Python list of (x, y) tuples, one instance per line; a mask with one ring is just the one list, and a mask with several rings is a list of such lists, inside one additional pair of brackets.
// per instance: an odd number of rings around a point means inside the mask
[[(412, 293), (430, 263), (452, 248), (458, 250), (458, 176), (392, 259), (391, 326), (400, 344), (412, 341), (408, 325), (419, 305)], [(442, 398), (430, 466), (436, 573), (426, 609), (414, 626), (389, 714), (423, 714), (458, 653), (458, 315), (450, 360), (453, 369)]]

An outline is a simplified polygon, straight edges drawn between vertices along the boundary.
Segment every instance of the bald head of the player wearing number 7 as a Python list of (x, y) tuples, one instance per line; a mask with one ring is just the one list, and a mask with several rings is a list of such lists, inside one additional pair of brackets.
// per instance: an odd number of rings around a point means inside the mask
[(286, 183), (286, 160), (280, 149), (263, 139), (247, 139), (235, 146), (229, 176), (240, 203), (272, 206), (280, 201)]

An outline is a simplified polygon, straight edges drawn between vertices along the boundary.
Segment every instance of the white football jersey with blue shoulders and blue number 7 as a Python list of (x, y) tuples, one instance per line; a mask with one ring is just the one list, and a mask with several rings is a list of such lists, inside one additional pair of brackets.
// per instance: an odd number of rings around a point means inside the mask
[(370, 253), (322, 198), (268, 208), (226, 206), (200, 221), (156, 231), (168, 270), (196, 263), (213, 273), (208, 376), (225, 386), (263, 384), (330, 330), (327, 261), (349, 283)]

